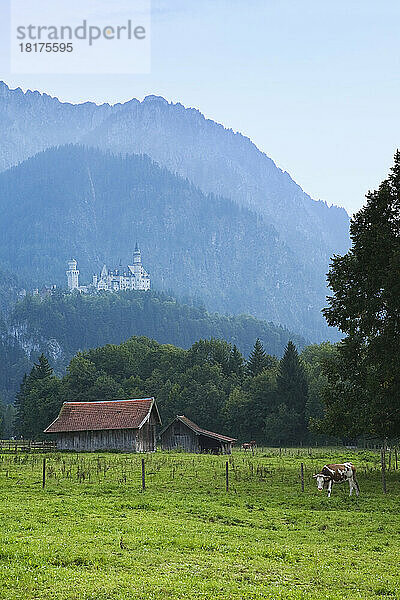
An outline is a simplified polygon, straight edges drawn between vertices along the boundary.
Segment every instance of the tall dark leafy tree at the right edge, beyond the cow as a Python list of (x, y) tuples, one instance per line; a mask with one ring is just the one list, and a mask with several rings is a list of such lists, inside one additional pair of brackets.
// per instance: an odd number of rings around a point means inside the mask
[[(400, 152), (350, 226), (352, 247), (328, 274), (329, 325), (346, 334), (326, 366), (325, 429), (337, 435), (400, 433)], [(351, 402), (350, 402), (351, 401)], [(350, 405), (351, 404), (351, 405)], [(339, 415), (342, 418), (339, 419)]]

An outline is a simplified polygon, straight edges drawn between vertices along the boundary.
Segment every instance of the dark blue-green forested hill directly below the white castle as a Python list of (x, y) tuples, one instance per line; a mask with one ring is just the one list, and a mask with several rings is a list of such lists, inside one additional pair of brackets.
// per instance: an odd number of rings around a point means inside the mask
[(256, 338), (275, 356), (282, 356), (289, 339), (305, 345), (303, 338), (272, 323), (211, 314), (152, 291), (28, 295), (15, 306), (10, 326), (22, 347), (34, 348), (36, 355), (44, 352), (59, 371), (79, 350), (120, 344), (133, 335), (181, 348), (200, 338), (220, 338), (236, 344), (246, 356)]

